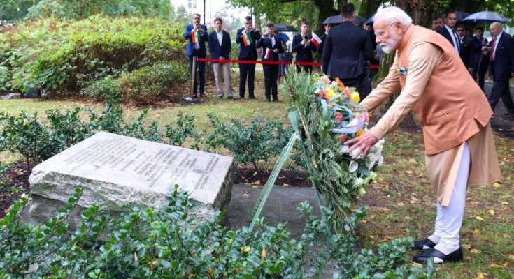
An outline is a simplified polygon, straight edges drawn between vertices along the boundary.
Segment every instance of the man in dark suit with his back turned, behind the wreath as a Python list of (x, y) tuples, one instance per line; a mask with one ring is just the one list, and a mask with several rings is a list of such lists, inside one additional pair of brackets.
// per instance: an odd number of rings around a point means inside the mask
[(355, 8), (352, 3), (343, 5), (341, 17), (343, 23), (330, 29), (323, 47), (323, 73), (331, 79), (338, 77), (345, 85), (363, 93), (366, 77), (364, 64), (373, 58), (371, 38), (366, 30), (353, 24)]

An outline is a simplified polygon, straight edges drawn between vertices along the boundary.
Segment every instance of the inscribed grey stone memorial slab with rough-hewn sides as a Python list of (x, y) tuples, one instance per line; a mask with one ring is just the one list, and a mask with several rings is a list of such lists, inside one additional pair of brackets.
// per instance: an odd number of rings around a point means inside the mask
[(113, 216), (134, 206), (159, 208), (178, 184), (194, 199), (199, 221), (230, 202), (234, 159), (178, 146), (100, 132), (45, 160), (29, 178), (29, 221), (55, 216), (75, 188), (78, 213), (99, 204)]

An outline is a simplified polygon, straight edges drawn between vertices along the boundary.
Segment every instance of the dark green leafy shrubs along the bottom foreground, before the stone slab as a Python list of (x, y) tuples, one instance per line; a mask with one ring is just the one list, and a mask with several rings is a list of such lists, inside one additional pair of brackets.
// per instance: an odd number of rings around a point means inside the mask
[[(67, 216), (81, 193), (78, 188), (66, 208), (44, 225), (18, 218), (27, 196), (13, 204), (0, 219), (0, 269), (6, 277), (319, 278), (328, 264), (336, 271), (332, 278), (432, 278), (434, 272), (432, 263), (409, 266), (404, 252), (412, 239), (382, 243), (377, 253), (357, 251), (352, 230), (364, 216), (362, 209), (345, 220), (343, 233), (327, 236), (327, 219), (313, 217), (312, 208), (300, 204), (307, 225), (296, 241), (284, 224), (271, 227), (262, 220), (254, 230), (224, 228), (220, 213), (192, 226), (193, 203), (176, 186), (161, 210), (134, 208), (119, 220), (107, 220), (94, 205), (73, 230)], [(313, 246), (321, 252), (308, 257)]]

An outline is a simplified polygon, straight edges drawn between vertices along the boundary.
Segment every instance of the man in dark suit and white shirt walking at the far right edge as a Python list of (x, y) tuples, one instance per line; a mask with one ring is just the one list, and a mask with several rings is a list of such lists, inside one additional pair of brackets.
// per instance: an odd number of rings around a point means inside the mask
[[(509, 89), (509, 80), (514, 77), (514, 40), (508, 33), (501, 29), (499, 22), (493, 22), (490, 26), (492, 40), (489, 47), (483, 47), (490, 57), (491, 71), (494, 79), (492, 84), (489, 104), (492, 110), (498, 101), (503, 100), (507, 112), (503, 117), (514, 116), (514, 102)], [(494, 115), (491, 117), (494, 118)]]

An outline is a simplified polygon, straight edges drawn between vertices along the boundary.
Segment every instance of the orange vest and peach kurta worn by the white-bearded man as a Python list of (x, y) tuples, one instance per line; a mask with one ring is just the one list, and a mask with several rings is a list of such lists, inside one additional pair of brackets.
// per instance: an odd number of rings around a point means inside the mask
[[(399, 75), (398, 68), (406, 69), (406, 74)], [(385, 137), (409, 111), (414, 112), (422, 126), (427, 171), (439, 202), (448, 205), (455, 182), (450, 175), (452, 165), (460, 162), (458, 147), (466, 140), (473, 139), (470, 182), (487, 184), (500, 179), (488, 126), (492, 110), (448, 40), (411, 24), (389, 75), (361, 104), (373, 110), (399, 89), (400, 96), (370, 132), (379, 139)], [(439, 163), (430, 163), (432, 156), (439, 157)], [(447, 163), (441, 162), (441, 156)]]

